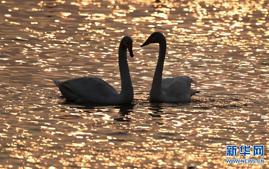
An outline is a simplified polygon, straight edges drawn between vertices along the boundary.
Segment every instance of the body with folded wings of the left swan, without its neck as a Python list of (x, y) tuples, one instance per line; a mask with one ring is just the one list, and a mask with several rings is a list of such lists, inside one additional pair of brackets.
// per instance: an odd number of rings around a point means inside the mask
[(65, 99), (74, 102), (107, 102), (113, 100), (118, 92), (103, 79), (82, 77), (59, 83), (54, 82)]

